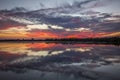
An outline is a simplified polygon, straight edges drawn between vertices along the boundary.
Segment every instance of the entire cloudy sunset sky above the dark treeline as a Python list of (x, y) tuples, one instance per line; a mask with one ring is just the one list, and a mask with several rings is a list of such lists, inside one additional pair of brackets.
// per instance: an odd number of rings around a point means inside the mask
[(0, 39), (120, 37), (120, 0), (0, 0)]

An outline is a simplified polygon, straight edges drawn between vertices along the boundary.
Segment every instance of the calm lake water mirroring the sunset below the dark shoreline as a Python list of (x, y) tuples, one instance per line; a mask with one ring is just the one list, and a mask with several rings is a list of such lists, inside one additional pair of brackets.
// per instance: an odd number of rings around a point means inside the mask
[(0, 43), (0, 80), (120, 80), (120, 47)]

